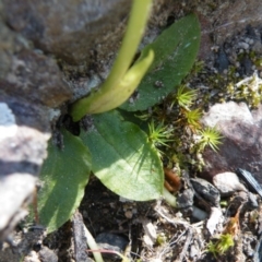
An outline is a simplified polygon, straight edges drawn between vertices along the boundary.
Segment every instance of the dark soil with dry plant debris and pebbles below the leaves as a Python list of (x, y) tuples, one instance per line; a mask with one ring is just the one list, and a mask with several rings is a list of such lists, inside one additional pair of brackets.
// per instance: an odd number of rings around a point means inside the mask
[[(162, 200), (120, 201), (118, 195), (95, 177), (92, 177), (86, 187), (79, 210), (94, 238), (102, 233), (109, 234), (112, 238), (120, 237), (124, 246), (122, 252), (130, 261), (259, 261), (253, 260), (253, 255), (262, 229), (261, 201), (259, 209), (242, 209), (234, 234), (235, 246), (225, 254), (216, 257), (207, 252), (207, 243), (211, 239), (213, 242), (217, 239), (206, 229), (206, 219), (198, 221), (190, 212), (181, 213)], [(223, 213), (226, 216), (223, 224), (225, 228), (233, 211), (227, 207)], [(43, 228), (21, 224), (12, 239), (14, 247), (7, 248), (1, 253), (0, 261), (75, 261), (75, 234), (78, 233), (74, 231), (72, 222), (66, 223), (58, 231), (48, 236)], [(108, 241), (105, 236), (104, 240)], [(92, 258), (92, 253), (88, 255)], [(119, 259), (107, 255), (104, 261)]]

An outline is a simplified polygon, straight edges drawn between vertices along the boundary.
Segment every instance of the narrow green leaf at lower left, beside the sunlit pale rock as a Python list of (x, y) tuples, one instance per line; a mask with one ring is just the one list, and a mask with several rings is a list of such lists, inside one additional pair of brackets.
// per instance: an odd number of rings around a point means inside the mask
[(79, 207), (91, 171), (91, 155), (82, 141), (68, 131), (62, 134), (64, 148), (49, 141), (40, 174), (38, 213), (48, 233), (63, 225)]

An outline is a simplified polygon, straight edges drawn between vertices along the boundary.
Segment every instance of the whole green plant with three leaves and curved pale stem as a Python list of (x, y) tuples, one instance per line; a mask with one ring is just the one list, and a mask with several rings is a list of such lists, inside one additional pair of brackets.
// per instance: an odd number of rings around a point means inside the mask
[[(200, 44), (200, 25), (190, 14), (166, 28), (140, 51), (151, 0), (133, 0), (127, 32), (112, 70), (102, 86), (69, 108), (73, 121), (90, 115), (93, 126), (75, 136), (61, 130), (64, 148), (49, 142), (48, 158), (40, 174), (38, 213), (48, 233), (74, 213), (84, 195), (91, 171), (112, 192), (135, 201), (175, 196), (164, 188), (164, 170), (156, 145), (168, 134), (162, 126), (150, 126), (150, 134), (127, 118), (147, 110), (174, 92), (192, 68)], [(156, 83), (160, 83), (157, 85)], [(136, 90), (139, 98), (128, 98)], [(133, 117), (135, 118), (135, 117)], [(153, 123), (152, 123), (153, 124)]]

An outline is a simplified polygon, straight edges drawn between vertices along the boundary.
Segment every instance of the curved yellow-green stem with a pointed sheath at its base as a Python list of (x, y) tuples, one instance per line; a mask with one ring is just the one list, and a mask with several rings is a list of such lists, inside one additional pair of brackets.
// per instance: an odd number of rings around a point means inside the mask
[[(132, 69), (128, 71), (143, 36), (151, 3), (152, 0), (133, 0), (127, 32), (112, 70), (98, 92), (81, 98), (71, 106), (70, 115), (74, 121), (80, 120), (86, 114), (98, 114), (120, 106), (136, 88), (140, 80), (150, 68), (154, 53), (148, 53), (145, 59), (139, 62), (139, 68), (142, 68), (142, 71), (136, 70), (130, 85), (127, 84), (124, 76)], [(114, 94), (110, 94), (112, 92)], [(118, 98), (114, 98), (115, 94), (118, 94)]]

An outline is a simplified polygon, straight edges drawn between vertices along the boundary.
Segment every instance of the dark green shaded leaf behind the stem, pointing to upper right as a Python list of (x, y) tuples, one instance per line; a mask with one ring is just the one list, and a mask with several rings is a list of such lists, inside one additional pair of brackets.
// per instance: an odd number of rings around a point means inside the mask
[(139, 85), (139, 98), (126, 102), (120, 108), (145, 110), (159, 103), (177, 87), (189, 73), (200, 45), (200, 24), (196, 15), (190, 14), (165, 29), (154, 43), (147, 45), (138, 62), (154, 51), (155, 59), (148, 73)]

